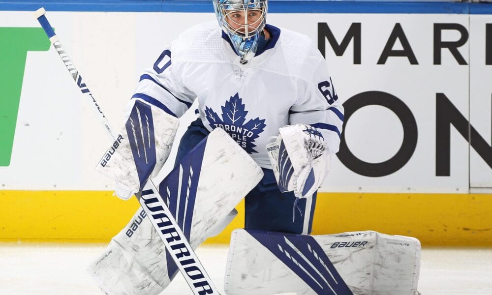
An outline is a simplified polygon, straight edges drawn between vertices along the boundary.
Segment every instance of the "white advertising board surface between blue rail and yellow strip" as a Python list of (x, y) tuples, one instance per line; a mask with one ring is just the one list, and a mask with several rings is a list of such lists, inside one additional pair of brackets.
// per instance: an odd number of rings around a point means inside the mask
[[(215, 18), (212, 13), (151, 12), (48, 16), (115, 129), (123, 124), (140, 71), (185, 28)], [(466, 193), (470, 185), (492, 186), (490, 164), (467, 138), (452, 123), (436, 123), (454, 107), (491, 144), (487, 77), (492, 70), (484, 53), (474, 52), (483, 50), (482, 27), (492, 23), (492, 16), (473, 16), (469, 22), (465, 14), (273, 13), (268, 20), (324, 47), (346, 105), (345, 151), (334, 159), (322, 191)], [(2, 27), (39, 25), (30, 12), (2, 11)], [(351, 40), (344, 44), (347, 32)], [(475, 67), (482, 72), (475, 74)], [(182, 119), (181, 133), (193, 110)], [(109, 190), (113, 184), (93, 170), (108, 145), (105, 130), (53, 48), (29, 51), (10, 164), (0, 167), (1, 188)]]

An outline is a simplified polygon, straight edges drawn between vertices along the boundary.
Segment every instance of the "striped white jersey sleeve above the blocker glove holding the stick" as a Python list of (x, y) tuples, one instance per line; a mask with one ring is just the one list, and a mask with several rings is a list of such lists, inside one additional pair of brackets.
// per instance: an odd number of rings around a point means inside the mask
[(176, 118), (191, 107), (196, 94), (184, 86), (181, 79), (184, 65), (173, 62), (172, 50), (172, 45), (164, 49), (154, 65), (142, 72), (127, 110), (131, 110), (136, 98)]

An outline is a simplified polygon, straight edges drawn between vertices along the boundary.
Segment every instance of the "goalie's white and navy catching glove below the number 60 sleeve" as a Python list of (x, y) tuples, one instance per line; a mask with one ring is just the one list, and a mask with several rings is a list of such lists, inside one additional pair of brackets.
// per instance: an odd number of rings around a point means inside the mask
[(272, 169), (281, 192), (297, 198), (311, 196), (323, 183), (331, 153), (321, 132), (306, 124), (279, 129), (275, 142), (267, 145)]

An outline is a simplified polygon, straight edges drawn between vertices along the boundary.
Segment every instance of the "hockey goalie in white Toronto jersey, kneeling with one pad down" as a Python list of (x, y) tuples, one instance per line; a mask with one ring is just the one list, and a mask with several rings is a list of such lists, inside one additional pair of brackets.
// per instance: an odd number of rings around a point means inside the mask
[[(122, 199), (139, 194), (197, 118), (158, 185), (191, 246), (219, 233), (245, 199), (229, 295), (416, 292), (420, 243), (375, 232), (310, 236), (316, 193), (338, 152), (343, 107), (305, 35), (266, 23), (268, 0), (213, 0), (217, 21), (187, 29), (140, 76), (118, 144), (97, 170)], [(193, 111), (193, 109), (192, 109)], [(164, 291), (178, 268), (135, 213), (89, 271), (107, 294)]]

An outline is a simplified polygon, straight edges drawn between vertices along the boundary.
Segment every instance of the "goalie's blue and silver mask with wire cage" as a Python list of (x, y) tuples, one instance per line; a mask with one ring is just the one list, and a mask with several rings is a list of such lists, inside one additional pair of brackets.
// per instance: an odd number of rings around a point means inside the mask
[(265, 28), (268, 0), (213, 0), (215, 15), (241, 63), (253, 58)]

